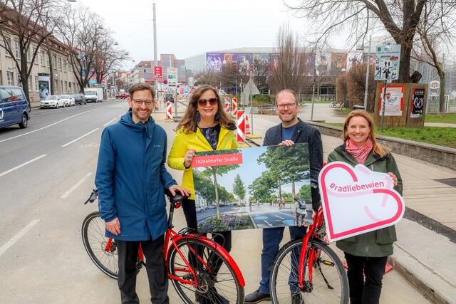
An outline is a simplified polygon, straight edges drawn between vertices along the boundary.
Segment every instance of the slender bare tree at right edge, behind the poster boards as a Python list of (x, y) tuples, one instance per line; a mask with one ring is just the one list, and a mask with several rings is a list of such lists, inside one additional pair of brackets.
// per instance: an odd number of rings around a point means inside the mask
[(413, 58), (428, 63), (437, 70), (440, 78), (440, 116), (445, 116), (445, 68), (444, 58), (438, 54), (452, 44), (456, 33), (456, 2), (443, 4), (440, 1), (425, 3), (423, 15), (417, 28), (417, 41)]

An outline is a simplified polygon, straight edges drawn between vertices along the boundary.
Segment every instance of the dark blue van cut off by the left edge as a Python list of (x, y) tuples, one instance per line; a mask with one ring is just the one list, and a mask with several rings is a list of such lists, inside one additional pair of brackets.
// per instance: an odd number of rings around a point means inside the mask
[(30, 107), (21, 87), (0, 85), (0, 127), (19, 124), (26, 128)]

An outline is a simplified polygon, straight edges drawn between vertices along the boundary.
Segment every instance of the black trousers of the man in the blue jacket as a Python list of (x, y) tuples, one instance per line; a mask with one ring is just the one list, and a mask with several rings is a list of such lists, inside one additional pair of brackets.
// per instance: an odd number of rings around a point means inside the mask
[(150, 301), (154, 304), (170, 303), (168, 278), (163, 256), (165, 237), (149, 241), (115, 241), (119, 255), (118, 285), (122, 303), (140, 303), (136, 294), (136, 261), (141, 244), (145, 256), (145, 269), (149, 278)]

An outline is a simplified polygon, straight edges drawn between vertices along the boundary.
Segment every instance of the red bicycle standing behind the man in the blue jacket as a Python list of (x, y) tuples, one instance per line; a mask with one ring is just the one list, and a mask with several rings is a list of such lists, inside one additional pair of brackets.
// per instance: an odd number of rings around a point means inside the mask
[[(98, 196), (96, 189), (88, 202)], [(244, 278), (234, 259), (219, 244), (190, 229), (172, 230), (174, 210), (180, 208), (183, 196), (168, 195), (170, 213), (165, 235), (165, 263), (168, 278), (184, 303), (243, 303)], [(86, 216), (82, 226), (84, 247), (95, 265), (110, 278), (118, 276), (118, 254), (115, 239), (105, 236), (105, 223), (98, 211)], [(138, 272), (145, 265), (138, 251)]]

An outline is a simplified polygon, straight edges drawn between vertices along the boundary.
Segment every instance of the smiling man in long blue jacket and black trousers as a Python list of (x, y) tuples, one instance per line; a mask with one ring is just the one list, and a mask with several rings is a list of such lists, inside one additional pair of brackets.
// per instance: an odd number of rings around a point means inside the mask
[(118, 250), (118, 285), (122, 303), (139, 303), (136, 260), (141, 244), (152, 303), (169, 303), (163, 256), (167, 230), (164, 188), (189, 195), (166, 171), (166, 133), (150, 117), (154, 89), (137, 83), (130, 90), (130, 109), (103, 130), (95, 184), (106, 236)]

